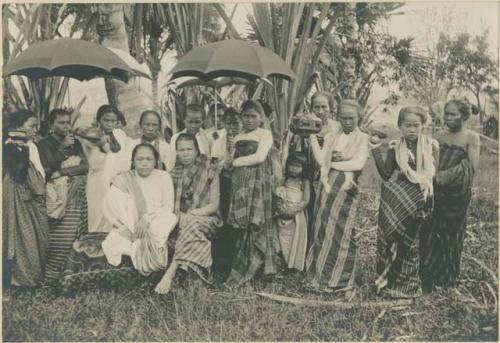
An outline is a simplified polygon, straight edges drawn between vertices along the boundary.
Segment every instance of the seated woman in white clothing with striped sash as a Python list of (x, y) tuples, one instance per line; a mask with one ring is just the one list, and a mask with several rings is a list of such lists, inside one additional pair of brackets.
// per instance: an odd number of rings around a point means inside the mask
[(158, 152), (147, 143), (132, 152), (132, 170), (118, 174), (103, 202), (113, 225), (102, 250), (111, 265), (130, 256), (142, 275), (167, 267), (167, 239), (177, 223), (170, 175), (155, 169)]

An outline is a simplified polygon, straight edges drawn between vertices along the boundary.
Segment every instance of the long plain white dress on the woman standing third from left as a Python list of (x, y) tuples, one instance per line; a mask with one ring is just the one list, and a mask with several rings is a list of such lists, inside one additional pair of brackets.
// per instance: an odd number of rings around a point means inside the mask
[(83, 151), (89, 163), (86, 188), (89, 232), (111, 231), (111, 224), (102, 214), (102, 201), (111, 186), (113, 177), (130, 169), (130, 158), (127, 154), (128, 137), (120, 129), (113, 130), (113, 135), (121, 147), (118, 152), (103, 152), (95, 144), (82, 139)]

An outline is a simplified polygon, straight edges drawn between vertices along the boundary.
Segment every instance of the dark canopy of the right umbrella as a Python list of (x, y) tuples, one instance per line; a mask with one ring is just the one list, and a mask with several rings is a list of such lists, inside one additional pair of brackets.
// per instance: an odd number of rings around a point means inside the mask
[(221, 76), (255, 80), (270, 76), (287, 80), (295, 73), (274, 52), (237, 39), (222, 40), (193, 48), (172, 69), (172, 79), (194, 76), (210, 80)]

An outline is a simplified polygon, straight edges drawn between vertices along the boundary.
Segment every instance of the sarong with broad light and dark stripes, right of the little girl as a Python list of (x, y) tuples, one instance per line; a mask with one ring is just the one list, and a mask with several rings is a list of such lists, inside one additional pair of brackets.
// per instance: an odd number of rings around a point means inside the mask
[[(361, 173), (355, 172), (355, 179)], [(306, 258), (306, 277), (320, 288), (354, 285), (357, 244), (354, 221), (358, 207), (357, 188), (341, 190), (344, 172), (330, 170), (330, 193), (319, 186), (312, 218), (313, 237)]]

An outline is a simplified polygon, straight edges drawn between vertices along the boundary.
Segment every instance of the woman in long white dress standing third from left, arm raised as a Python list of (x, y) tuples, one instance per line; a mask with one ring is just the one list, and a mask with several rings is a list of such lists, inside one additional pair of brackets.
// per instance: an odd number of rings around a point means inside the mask
[(97, 110), (96, 123), (102, 134), (95, 141), (79, 136), (89, 163), (87, 177), (87, 204), (89, 211), (89, 232), (109, 232), (111, 224), (102, 214), (102, 201), (116, 174), (129, 169), (127, 156), (127, 135), (120, 126), (120, 112), (113, 105), (102, 105)]

